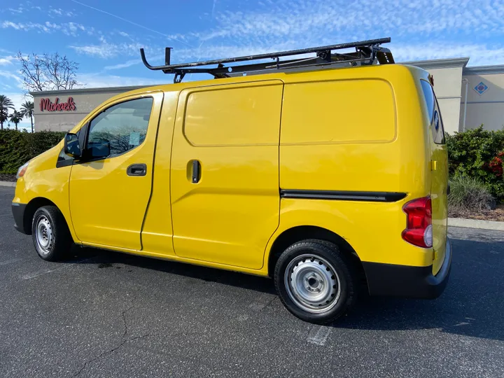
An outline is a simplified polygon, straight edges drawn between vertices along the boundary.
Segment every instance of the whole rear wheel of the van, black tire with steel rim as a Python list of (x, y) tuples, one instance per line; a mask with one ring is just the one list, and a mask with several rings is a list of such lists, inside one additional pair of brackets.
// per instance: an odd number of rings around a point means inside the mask
[[(302, 256), (313, 256), (313, 259), (304, 257), (303, 260)], [(312, 267), (314, 270), (310, 271)], [(286, 269), (288, 268), (291, 273), (286, 278)], [(295, 273), (296, 269), (300, 269), (297, 271), (298, 273)], [(318, 275), (317, 269), (321, 269), (323, 272)], [(325, 271), (328, 272), (328, 276), (325, 276), (327, 281), (322, 277)], [(316, 288), (309, 284), (311, 277), (307, 279), (307, 276), (312, 274), (315, 274), (315, 280), (312, 281), (315, 282)], [(300, 288), (300, 286), (295, 286), (295, 282), (302, 282), (306, 285), (299, 289), (299, 292), (318, 295), (318, 293), (312, 294), (312, 290), (321, 288), (322, 293), (326, 293), (327, 297), (323, 298), (322, 304), (314, 301), (304, 302), (300, 295), (295, 294), (295, 287)], [(318, 239), (298, 241), (283, 251), (276, 262), (274, 283), (276, 292), (288, 311), (304, 321), (317, 324), (332, 323), (346, 314), (356, 303), (359, 288), (356, 267), (349, 256), (339, 251), (336, 244)], [(330, 289), (331, 285), (332, 289)], [(307, 307), (309, 308), (307, 309)]]

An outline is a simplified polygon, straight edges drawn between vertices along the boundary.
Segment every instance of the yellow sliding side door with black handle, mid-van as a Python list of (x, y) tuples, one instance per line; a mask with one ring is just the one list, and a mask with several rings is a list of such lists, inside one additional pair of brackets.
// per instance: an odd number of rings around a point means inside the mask
[(177, 256), (262, 267), (279, 224), (282, 90), (281, 80), (264, 80), (181, 92), (171, 182)]

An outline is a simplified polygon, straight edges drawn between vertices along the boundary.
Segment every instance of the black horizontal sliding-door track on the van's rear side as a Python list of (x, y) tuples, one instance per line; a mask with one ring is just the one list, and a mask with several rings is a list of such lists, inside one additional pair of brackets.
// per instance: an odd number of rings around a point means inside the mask
[(402, 200), (406, 195), (406, 193), (395, 192), (353, 192), (345, 190), (280, 190), (280, 197), (282, 198), (304, 198), (307, 200), (396, 202)]

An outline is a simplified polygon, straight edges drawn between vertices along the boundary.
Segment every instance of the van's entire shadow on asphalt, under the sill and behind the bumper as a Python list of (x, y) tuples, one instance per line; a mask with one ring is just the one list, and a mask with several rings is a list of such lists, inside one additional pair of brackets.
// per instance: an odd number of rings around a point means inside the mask
[[(454, 335), (504, 340), (504, 243), (452, 239), (451, 276), (437, 300), (362, 295), (348, 316), (332, 325), (358, 330), (437, 329)], [(262, 293), (274, 293), (270, 279), (179, 262), (92, 248), (76, 248), (81, 263), (98, 268), (122, 263)], [(83, 260), (84, 259), (84, 260)]]

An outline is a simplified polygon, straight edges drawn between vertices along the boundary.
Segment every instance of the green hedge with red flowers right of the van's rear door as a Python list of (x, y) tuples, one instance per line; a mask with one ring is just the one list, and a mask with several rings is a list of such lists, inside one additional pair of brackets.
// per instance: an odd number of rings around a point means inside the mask
[(504, 130), (473, 130), (447, 134), (449, 174), (477, 179), (491, 195), (504, 202)]

